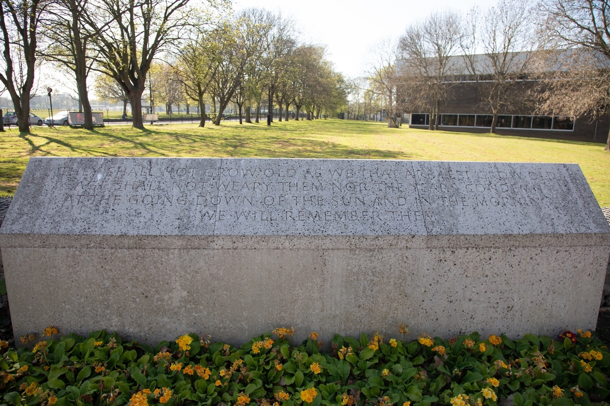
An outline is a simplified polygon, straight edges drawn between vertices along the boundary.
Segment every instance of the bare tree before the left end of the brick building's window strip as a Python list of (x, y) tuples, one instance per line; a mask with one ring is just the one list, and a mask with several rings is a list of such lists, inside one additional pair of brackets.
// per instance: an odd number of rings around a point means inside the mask
[(438, 129), (439, 107), (451, 92), (445, 77), (450, 74), (451, 56), (459, 49), (461, 35), (459, 15), (443, 12), (407, 27), (400, 38), (401, 82), (411, 107), (428, 109), (429, 130)]

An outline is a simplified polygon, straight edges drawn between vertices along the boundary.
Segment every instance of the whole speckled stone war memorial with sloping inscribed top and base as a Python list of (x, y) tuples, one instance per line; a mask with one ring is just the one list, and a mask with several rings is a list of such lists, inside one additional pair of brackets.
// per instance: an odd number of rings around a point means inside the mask
[(0, 228), (15, 337), (594, 329), (610, 254), (575, 164), (31, 158)]

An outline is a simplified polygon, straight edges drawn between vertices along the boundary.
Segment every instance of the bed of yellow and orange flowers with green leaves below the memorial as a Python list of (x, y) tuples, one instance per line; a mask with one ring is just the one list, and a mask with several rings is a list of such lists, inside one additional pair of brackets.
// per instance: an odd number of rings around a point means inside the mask
[[(24, 346), (0, 342), (1, 397), (11, 405), (515, 406), (605, 401), (610, 354), (590, 332), (558, 338), (478, 333), (403, 341), (312, 333), (301, 345), (278, 328), (240, 348), (183, 335), (152, 348), (116, 334), (49, 327)], [(400, 327), (406, 337), (406, 327)], [(56, 338), (56, 339), (54, 339)]]

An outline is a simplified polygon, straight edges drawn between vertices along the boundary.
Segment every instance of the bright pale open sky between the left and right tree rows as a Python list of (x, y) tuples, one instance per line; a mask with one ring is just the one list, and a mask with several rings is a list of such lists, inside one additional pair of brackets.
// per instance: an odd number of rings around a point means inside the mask
[(347, 77), (363, 75), (369, 50), (384, 38), (398, 38), (409, 24), (431, 12), (454, 10), (467, 12), (474, 5), (488, 7), (497, 0), (386, 0), (336, 1), (308, 0), (232, 0), (239, 12), (248, 7), (281, 12), (292, 16), (304, 43), (325, 44), (327, 58), (335, 70)]

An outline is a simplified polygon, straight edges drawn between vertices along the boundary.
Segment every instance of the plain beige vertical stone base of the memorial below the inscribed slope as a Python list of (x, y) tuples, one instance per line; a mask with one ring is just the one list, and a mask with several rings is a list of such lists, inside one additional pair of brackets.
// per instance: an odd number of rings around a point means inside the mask
[[(448, 338), (595, 329), (608, 234), (0, 235), (15, 337), (53, 324), (240, 345), (280, 326)], [(580, 294), (587, 292), (586, 294)]]

